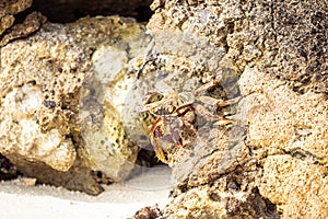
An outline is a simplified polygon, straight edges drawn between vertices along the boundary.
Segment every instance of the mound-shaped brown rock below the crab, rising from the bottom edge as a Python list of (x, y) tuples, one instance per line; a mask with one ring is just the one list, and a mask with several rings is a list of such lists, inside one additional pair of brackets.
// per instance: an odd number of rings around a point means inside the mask
[(276, 205), (257, 188), (260, 163), (245, 146), (233, 150), (214, 152), (195, 165), (188, 182), (174, 189), (175, 198), (163, 209), (163, 217), (279, 218)]

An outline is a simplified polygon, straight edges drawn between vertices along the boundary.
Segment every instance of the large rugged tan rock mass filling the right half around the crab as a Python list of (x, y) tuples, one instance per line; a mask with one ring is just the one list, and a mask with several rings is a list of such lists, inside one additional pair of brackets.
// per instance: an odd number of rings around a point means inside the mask
[(163, 143), (176, 180), (164, 217), (326, 218), (327, 2), (155, 0), (152, 10), (141, 80), (178, 72), (202, 84), (227, 66), (209, 95), (256, 91), (230, 108), (237, 123), (198, 128), (185, 148)]

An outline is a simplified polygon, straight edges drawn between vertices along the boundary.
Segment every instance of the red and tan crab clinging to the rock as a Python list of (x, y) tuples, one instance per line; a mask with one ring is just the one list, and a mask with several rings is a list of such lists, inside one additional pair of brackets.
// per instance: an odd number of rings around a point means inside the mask
[(222, 122), (223, 124), (234, 122), (227, 116), (210, 113), (204, 107), (206, 104), (222, 108), (238, 103), (243, 97), (256, 92), (249, 92), (225, 101), (201, 95), (203, 91), (220, 83), (220, 73), (221, 71), (216, 72), (214, 79), (194, 92), (176, 92), (164, 81), (161, 81), (155, 84), (155, 91), (144, 96), (143, 105), (137, 108), (139, 113), (149, 112), (156, 118), (150, 128), (149, 135), (155, 154), (163, 163), (168, 163), (168, 160), (165, 158), (161, 142), (184, 147), (186, 139), (181, 136), (183, 131), (188, 130), (188, 135), (197, 135), (197, 116), (201, 116), (206, 120)]

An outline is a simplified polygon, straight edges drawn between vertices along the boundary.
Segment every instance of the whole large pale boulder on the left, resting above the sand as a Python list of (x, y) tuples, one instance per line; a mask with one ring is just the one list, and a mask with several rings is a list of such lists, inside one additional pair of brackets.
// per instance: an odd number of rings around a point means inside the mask
[[(102, 191), (93, 171), (112, 181), (126, 177), (138, 150), (112, 104), (124, 100), (114, 91), (117, 84), (127, 89), (122, 74), (142, 48), (143, 30), (118, 16), (46, 23), (33, 36), (1, 47), (0, 152), (40, 183), (89, 194)], [(109, 62), (118, 51), (124, 58)], [(101, 84), (93, 88), (90, 78)], [(83, 105), (89, 99), (98, 107)], [(96, 118), (105, 119), (97, 124)], [(93, 134), (98, 138), (90, 139)]]

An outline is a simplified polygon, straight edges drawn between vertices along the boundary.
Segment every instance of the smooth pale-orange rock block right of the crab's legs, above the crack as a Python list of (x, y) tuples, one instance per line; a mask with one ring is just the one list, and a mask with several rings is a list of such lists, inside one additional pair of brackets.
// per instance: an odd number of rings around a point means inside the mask
[(243, 102), (248, 117), (247, 143), (266, 154), (284, 154), (328, 165), (328, 102), (326, 94), (298, 94), (284, 81), (246, 68), (241, 90), (261, 89)]

